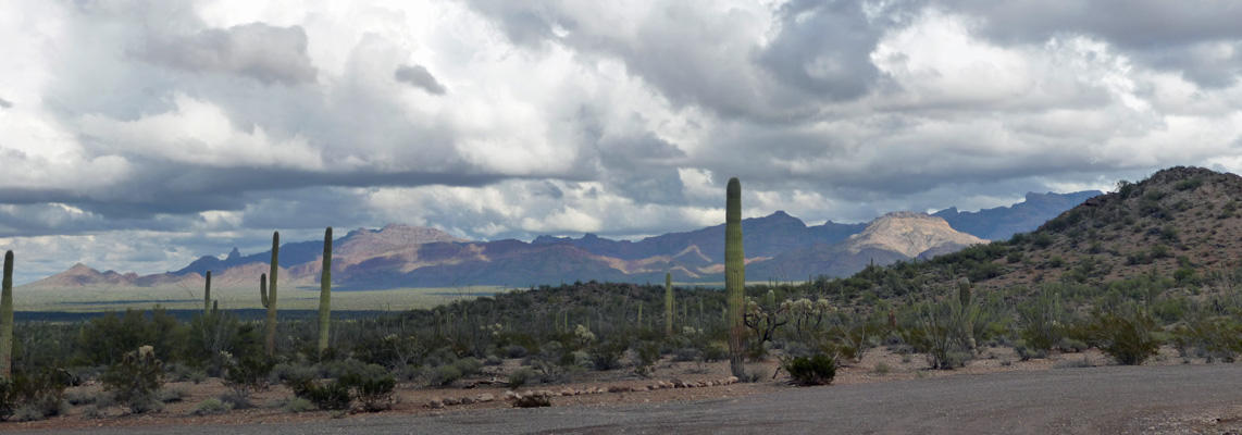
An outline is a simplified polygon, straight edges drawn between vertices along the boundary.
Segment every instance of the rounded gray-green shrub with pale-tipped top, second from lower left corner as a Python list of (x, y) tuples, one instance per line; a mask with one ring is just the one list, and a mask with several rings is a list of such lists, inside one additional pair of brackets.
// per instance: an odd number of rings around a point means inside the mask
[(164, 369), (150, 346), (125, 353), (120, 362), (112, 364), (103, 374), (103, 389), (130, 413), (142, 414), (161, 409), (155, 393), (164, 387)]

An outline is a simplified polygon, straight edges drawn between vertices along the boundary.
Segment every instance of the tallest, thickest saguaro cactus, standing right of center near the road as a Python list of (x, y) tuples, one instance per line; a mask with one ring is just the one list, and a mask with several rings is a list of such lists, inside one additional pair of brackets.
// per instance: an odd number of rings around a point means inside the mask
[(741, 353), (745, 318), (741, 312), (743, 290), (746, 285), (745, 254), (741, 250), (741, 181), (729, 179), (724, 209), (724, 291), (729, 301), (729, 368), (733, 375), (745, 377)]

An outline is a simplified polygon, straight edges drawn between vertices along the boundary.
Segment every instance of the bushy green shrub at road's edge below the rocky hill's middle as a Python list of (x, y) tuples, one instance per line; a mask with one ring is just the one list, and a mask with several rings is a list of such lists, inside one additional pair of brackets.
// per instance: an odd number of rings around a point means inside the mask
[(1143, 309), (1122, 307), (1113, 312), (1097, 309), (1077, 334), (1119, 364), (1138, 365), (1160, 350), (1156, 328), (1156, 322)]

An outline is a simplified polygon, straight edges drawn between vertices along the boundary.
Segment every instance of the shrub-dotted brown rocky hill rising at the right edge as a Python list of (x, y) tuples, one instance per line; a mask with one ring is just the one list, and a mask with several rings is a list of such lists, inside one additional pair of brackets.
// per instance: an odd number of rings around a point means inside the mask
[[(1043, 282), (1104, 286), (1144, 277), (1159, 287), (1211, 287), (1242, 265), (1242, 176), (1160, 170), (1094, 196), (1036, 231), (922, 265), (927, 286), (968, 276), (986, 287)], [(1118, 288), (1129, 288), (1122, 285)], [(1129, 290), (1126, 290), (1129, 291)]]

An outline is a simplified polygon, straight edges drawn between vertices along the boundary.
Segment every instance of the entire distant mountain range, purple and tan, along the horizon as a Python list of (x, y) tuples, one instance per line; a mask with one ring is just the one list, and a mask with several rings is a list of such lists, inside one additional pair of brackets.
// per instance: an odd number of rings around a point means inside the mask
[[(960, 213), (955, 208), (928, 215), (891, 213), (868, 224), (806, 225), (776, 211), (743, 220), (746, 276), (750, 281), (801, 280), (807, 276), (848, 276), (867, 265), (927, 259), (954, 252), (986, 239), (1030, 231), (1049, 218), (1098, 195), (1027, 194), (1011, 208)], [(963, 231), (969, 227), (975, 231)], [(979, 235), (982, 236), (979, 236)], [(592, 234), (580, 239), (539, 236), (519, 240), (469, 241), (447, 232), (406, 225), (358, 229), (334, 240), (334, 288), (384, 290), (409, 287), (527, 287), (573, 281), (660, 282), (672, 272), (678, 282), (723, 282), (724, 225), (671, 232), (640, 241), (609, 240)], [(320, 275), (320, 241), (281, 246), (282, 280), (315, 286)], [(166, 273), (99, 272), (76, 265), (66, 272), (26, 285), (29, 288), (197, 287), (212, 271), (219, 287), (257, 287), (270, 252), (225, 259), (204, 256)]]

